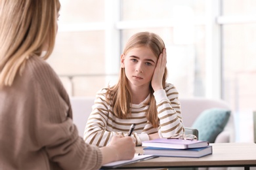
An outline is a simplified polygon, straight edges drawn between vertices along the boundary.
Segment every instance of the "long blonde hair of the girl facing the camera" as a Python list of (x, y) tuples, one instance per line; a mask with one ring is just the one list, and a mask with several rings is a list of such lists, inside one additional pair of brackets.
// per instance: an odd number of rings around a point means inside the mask
[[(159, 35), (149, 32), (140, 32), (133, 35), (123, 50), (123, 54), (127, 54), (129, 50), (140, 46), (149, 47), (155, 54), (156, 58), (159, 58), (165, 44)], [(165, 73), (163, 75), (162, 84), (165, 87), (167, 80), (167, 69), (165, 67)], [(156, 110), (156, 100), (153, 96), (154, 90), (150, 84), (150, 99), (144, 103), (149, 105), (149, 109), (146, 111), (146, 118), (154, 126), (158, 127), (158, 115)], [(121, 68), (119, 80), (115, 86), (108, 88), (106, 93), (108, 102), (112, 101), (112, 107), (114, 108), (114, 114), (118, 118), (127, 118), (128, 114), (131, 114), (131, 101), (132, 96), (129, 90), (128, 80), (125, 76), (125, 68)]]

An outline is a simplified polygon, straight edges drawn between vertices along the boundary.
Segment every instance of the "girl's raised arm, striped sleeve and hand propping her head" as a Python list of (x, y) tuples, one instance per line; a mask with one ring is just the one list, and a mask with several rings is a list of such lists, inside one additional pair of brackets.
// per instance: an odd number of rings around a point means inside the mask
[[(162, 85), (166, 63), (167, 54), (164, 48), (158, 58), (151, 82), (158, 109), (158, 118), (160, 119), (160, 126), (158, 127), (160, 137), (171, 137), (175, 133), (184, 133), (178, 99), (179, 93), (173, 84), (165, 84), (165, 88)], [(156, 135), (150, 136), (150, 139), (154, 139), (154, 137)]]

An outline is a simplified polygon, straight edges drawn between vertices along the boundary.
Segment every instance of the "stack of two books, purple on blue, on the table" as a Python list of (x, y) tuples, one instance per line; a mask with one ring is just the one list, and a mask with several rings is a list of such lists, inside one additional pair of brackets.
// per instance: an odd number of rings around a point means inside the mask
[(213, 153), (207, 141), (155, 139), (142, 142), (145, 155), (200, 158)]

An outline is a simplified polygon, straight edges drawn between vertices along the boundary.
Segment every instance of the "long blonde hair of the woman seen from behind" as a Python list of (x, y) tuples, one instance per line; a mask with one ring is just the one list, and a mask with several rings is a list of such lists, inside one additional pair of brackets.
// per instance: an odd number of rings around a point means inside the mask
[(11, 86), (32, 56), (43, 59), (53, 52), (57, 31), (58, 0), (0, 1), (0, 85)]

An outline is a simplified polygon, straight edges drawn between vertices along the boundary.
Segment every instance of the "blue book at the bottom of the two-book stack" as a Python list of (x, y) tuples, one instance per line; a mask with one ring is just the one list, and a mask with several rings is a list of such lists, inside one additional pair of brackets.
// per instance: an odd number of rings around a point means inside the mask
[(188, 158), (200, 158), (213, 154), (212, 146), (206, 146), (202, 148), (188, 148), (188, 149), (173, 149), (173, 148), (156, 148), (146, 147), (143, 148), (144, 155), (155, 156), (171, 156), (171, 157), (188, 157)]

